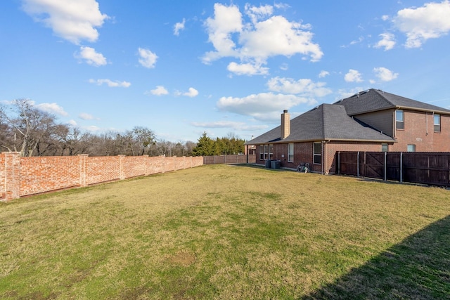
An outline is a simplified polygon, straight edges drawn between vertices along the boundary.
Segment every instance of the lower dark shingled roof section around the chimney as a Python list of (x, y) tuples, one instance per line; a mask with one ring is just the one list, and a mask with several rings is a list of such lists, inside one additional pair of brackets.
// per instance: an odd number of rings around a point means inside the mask
[[(347, 115), (343, 105), (322, 104), (290, 121), (290, 135), (283, 143), (296, 141), (377, 141), (393, 143), (390, 136)], [(246, 144), (281, 142), (281, 126)]]

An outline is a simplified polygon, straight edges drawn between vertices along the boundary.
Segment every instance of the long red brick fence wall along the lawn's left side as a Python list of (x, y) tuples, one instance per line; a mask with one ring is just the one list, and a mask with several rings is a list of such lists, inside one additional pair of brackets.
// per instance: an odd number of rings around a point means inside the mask
[(203, 165), (203, 157), (52, 156), (0, 153), (0, 201)]

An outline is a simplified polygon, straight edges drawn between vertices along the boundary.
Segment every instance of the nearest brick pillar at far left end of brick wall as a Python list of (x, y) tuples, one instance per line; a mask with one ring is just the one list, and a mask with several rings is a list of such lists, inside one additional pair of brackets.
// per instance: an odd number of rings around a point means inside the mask
[(5, 157), (5, 200), (20, 198), (20, 153), (3, 152)]

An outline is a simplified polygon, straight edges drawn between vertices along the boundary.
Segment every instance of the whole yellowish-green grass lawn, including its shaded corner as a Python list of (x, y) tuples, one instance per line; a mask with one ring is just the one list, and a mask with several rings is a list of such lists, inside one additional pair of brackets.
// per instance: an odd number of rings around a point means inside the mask
[(210, 165), (0, 203), (0, 299), (449, 299), (450, 191)]

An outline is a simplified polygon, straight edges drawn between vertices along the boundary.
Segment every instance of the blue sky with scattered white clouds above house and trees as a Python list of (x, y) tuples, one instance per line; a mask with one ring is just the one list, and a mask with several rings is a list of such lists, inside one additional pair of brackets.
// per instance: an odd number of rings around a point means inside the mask
[(381, 89), (450, 108), (449, 1), (5, 0), (0, 101), (84, 131), (250, 140)]

